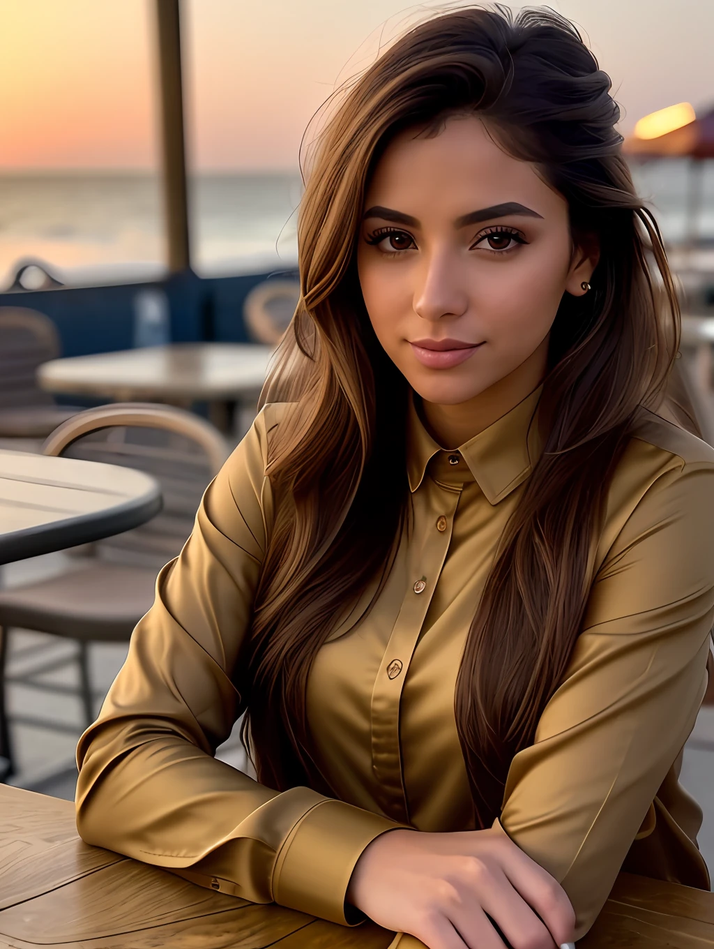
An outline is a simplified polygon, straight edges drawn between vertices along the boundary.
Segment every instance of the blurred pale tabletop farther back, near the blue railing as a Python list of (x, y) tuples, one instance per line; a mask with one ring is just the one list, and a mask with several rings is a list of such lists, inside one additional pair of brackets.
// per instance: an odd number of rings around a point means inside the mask
[(49, 392), (118, 401), (208, 401), (211, 419), (229, 430), (231, 403), (240, 408), (260, 395), (270, 346), (173, 343), (50, 360), (37, 379)]

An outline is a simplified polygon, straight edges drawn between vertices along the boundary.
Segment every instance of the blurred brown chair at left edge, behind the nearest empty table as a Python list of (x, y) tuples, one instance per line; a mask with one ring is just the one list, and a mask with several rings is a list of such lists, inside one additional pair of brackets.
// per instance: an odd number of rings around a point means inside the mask
[[(36, 381), (42, 363), (60, 355), (60, 339), (44, 313), (0, 307), (0, 438), (38, 439), (36, 445), (78, 411), (57, 405)], [(15, 447), (5, 441), (6, 447)], [(18, 447), (21, 447), (18, 445)]]

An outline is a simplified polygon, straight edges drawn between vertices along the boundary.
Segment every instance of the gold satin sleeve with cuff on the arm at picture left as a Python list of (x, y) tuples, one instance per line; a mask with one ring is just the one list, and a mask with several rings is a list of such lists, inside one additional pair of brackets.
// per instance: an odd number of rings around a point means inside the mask
[(244, 708), (233, 683), (270, 528), (266, 431), (277, 409), (256, 419), (158, 575), (80, 739), (77, 826), (89, 844), (196, 883), (344, 923), (360, 853), (398, 825), (306, 788), (278, 793), (213, 757)]

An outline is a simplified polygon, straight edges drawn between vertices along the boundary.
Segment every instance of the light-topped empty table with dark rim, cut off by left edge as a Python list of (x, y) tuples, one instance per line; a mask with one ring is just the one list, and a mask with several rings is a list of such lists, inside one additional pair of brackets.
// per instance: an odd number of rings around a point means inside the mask
[(149, 474), (0, 449), (0, 564), (130, 530), (160, 509)]

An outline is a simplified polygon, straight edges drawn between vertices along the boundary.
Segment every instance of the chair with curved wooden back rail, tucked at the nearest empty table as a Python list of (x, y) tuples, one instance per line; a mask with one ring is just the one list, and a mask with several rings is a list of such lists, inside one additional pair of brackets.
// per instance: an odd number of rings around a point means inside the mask
[[(6, 777), (11, 773), (12, 756), (4, 683), (76, 695), (82, 701), (84, 724), (91, 724), (97, 693), (90, 679), (89, 645), (128, 642), (154, 601), (158, 570), (183, 547), (201, 496), (229, 455), (229, 447), (209, 422), (190, 412), (124, 402), (87, 409), (68, 419), (46, 439), (43, 454), (151, 474), (160, 485), (163, 507), (134, 530), (70, 550), (75, 555), (73, 568), (60, 576), (0, 590), (0, 757), (10, 762)], [(5, 676), (11, 627), (74, 640), (75, 656), (58, 664), (77, 661), (79, 691), (43, 681), (41, 675), (50, 668), (46, 661), (22, 677)], [(42, 728), (75, 731), (46, 719), (22, 716), (22, 720)]]

